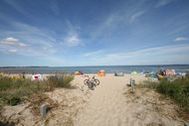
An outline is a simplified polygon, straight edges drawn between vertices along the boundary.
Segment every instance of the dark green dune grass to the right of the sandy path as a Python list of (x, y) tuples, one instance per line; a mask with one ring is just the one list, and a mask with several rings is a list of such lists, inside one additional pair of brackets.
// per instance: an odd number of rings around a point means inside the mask
[(155, 89), (157, 92), (173, 99), (183, 110), (189, 112), (189, 76), (174, 81), (161, 80), (147, 82), (143, 87)]

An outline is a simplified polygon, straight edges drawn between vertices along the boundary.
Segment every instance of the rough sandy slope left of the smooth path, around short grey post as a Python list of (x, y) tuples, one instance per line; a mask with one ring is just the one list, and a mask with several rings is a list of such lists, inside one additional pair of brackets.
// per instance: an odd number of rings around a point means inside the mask
[[(3, 124), (13, 124), (18, 126), (71, 126), (73, 118), (76, 116), (79, 109), (82, 109), (90, 96), (90, 91), (81, 90), (82, 82), (79, 79), (73, 81), (73, 88), (55, 89), (52, 92), (44, 95), (34, 95), (28, 99), (26, 103), (16, 106), (5, 106), (2, 115)], [(81, 83), (78, 83), (81, 82)], [(39, 114), (39, 106), (47, 103), (50, 110), (45, 119), (41, 119)], [(8, 122), (7, 122), (8, 121)], [(1, 124), (1, 122), (0, 122)]]

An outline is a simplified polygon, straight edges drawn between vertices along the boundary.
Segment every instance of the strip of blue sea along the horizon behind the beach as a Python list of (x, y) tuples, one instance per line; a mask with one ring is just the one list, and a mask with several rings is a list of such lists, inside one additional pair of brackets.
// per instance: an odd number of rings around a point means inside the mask
[(84, 73), (97, 73), (99, 70), (106, 73), (124, 72), (157, 72), (160, 69), (175, 69), (176, 72), (189, 72), (189, 65), (135, 65), (135, 66), (82, 66), (82, 67), (0, 67), (0, 72), (6, 73), (73, 73), (82, 71)]

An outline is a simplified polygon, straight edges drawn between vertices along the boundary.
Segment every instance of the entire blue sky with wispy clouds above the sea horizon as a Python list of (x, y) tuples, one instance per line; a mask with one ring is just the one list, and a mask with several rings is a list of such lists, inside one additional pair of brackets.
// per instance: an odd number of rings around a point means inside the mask
[(0, 66), (189, 64), (189, 0), (0, 0)]

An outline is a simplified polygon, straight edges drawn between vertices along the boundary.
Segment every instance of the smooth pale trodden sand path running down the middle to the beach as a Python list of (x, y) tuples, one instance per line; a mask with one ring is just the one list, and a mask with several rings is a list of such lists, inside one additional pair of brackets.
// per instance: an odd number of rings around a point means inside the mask
[(106, 76), (100, 81), (101, 85), (95, 89), (86, 108), (78, 115), (76, 126), (119, 126), (126, 123), (123, 89), (129, 77)]

